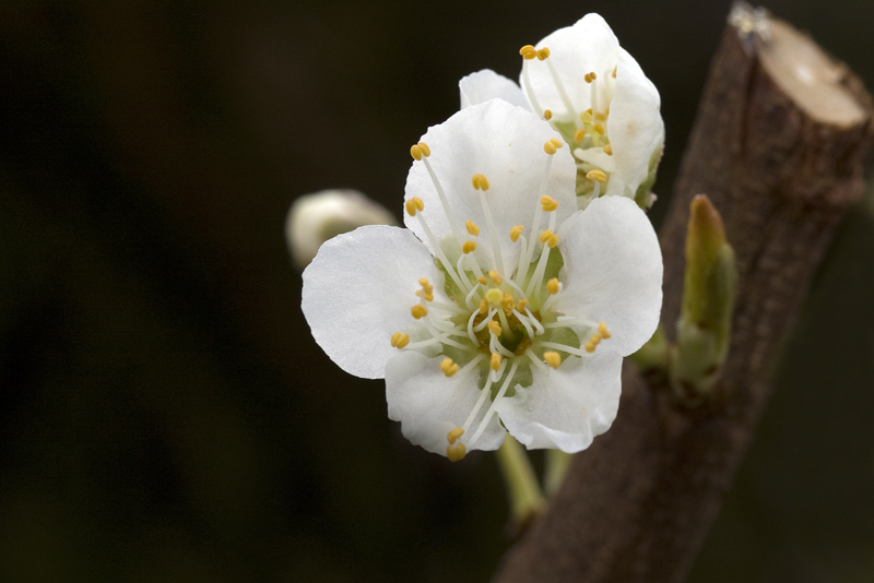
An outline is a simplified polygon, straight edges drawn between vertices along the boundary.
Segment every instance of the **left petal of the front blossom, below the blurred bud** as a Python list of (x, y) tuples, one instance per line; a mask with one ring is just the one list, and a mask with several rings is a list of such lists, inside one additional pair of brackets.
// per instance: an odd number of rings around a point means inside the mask
[(398, 354), (391, 335), (422, 328), (410, 313), (421, 277), (445, 299), (434, 258), (406, 229), (366, 226), (330, 239), (304, 271), (302, 308), (312, 336), (346, 372), (381, 379)]

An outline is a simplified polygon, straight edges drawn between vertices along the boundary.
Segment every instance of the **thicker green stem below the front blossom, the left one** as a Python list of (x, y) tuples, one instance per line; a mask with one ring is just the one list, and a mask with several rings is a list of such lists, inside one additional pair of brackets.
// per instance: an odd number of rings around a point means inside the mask
[(504, 484), (507, 486), (510, 520), (513, 526), (521, 530), (543, 508), (543, 491), (528, 454), (512, 436), (507, 435), (497, 453)]

